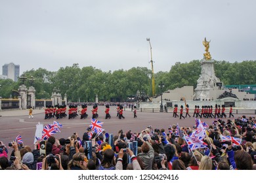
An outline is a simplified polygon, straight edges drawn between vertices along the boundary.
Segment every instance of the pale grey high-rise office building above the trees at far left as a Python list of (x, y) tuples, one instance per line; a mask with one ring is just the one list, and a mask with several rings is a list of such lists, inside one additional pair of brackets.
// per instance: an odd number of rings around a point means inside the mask
[(3, 65), (3, 75), (7, 78), (18, 81), (18, 76), (20, 76), (20, 65), (14, 65), (14, 63), (9, 63)]

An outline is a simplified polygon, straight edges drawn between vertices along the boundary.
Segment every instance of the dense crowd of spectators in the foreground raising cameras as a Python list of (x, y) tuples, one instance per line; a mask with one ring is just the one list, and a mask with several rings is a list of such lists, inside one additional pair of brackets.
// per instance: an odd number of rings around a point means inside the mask
[[(88, 131), (70, 137), (37, 141), (33, 149), (13, 141), (7, 148), (0, 144), (0, 169), (5, 170), (252, 170), (256, 169), (256, 120), (241, 118), (215, 120), (205, 129), (207, 148), (190, 150), (182, 136), (190, 135), (196, 126), (168, 129), (145, 127), (140, 132), (122, 130), (110, 135), (103, 131), (89, 139)], [(179, 129), (177, 129), (179, 127)], [(179, 135), (178, 134), (179, 131)], [(237, 146), (222, 141), (221, 136), (241, 139)], [(91, 141), (92, 156), (87, 141)], [(137, 152), (127, 143), (137, 141)], [(42, 144), (44, 145), (42, 148)], [(45, 151), (43, 151), (44, 149)], [(8, 157), (8, 150), (12, 150)], [(135, 156), (136, 155), (136, 156)]]

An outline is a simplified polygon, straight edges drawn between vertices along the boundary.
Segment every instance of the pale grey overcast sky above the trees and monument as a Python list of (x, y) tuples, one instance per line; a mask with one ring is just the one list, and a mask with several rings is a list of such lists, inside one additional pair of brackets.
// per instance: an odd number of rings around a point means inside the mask
[[(256, 59), (256, 1), (241, 0), (0, 0), (0, 63), (20, 74), (42, 67), (92, 65), (102, 71), (169, 71), (202, 59)], [(2, 69), (1, 69), (2, 70)]]

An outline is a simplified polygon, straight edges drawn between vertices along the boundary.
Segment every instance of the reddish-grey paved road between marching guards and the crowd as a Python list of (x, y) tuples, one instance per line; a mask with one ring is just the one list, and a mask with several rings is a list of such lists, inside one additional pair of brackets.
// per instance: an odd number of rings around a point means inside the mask
[[(88, 108), (88, 110), (90, 107)], [(38, 122), (42, 124), (52, 124), (54, 119), (44, 120), (44, 110), (33, 110), (33, 119), (28, 118), (28, 110), (6, 110), (0, 112), (0, 141), (5, 144), (13, 141), (15, 137), (20, 134), (24, 141), (24, 144), (33, 147), (33, 138), (35, 136), (35, 125)], [(78, 117), (72, 120), (68, 118), (60, 119), (58, 122), (63, 125), (60, 133), (56, 133), (54, 137), (60, 139), (62, 137), (67, 138), (77, 132), (80, 137), (86, 131), (87, 127), (91, 124), (91, 112), (89, 111), (89, 117), (84, 120), (80, 120)], [(123, 116), (125, 119), (119, 120), (116, 117), (115, 107), (110, 107), (110, 115), (112, 118), (105, 120), (104, 107), (98, 108), (98, 120), (104, 122), (103, 128), (108, 133), (117, 134), (119, 129), (123, 131), (137, 131), (140, 132), (148, 125), (152, 125), (153, 128), (165, 129), (167, 131), (169, 125), (179, 123), (179, 126), (192, 127), (195, 124), (194, 118), (186, 118), (180, 120), (179, 118), (173, 118), (173, 113), (160, 113), (160, 112), (137, 112), (138, 118), (133, 118), (133, 112), (131, 109), (126, 108)], [(191, 114), (190, 114), (191, 115)], [(191, 115), (192, 116), (192, 115)], [(238, 116), (235, 116), (238, 117)], [(211, 124), (213, 119), (203, 119), (207, 124)]]

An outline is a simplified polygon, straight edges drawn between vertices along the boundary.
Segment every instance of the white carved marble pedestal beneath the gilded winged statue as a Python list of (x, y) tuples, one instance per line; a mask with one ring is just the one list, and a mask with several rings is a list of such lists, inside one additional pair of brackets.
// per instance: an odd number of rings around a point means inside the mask
[(213, 59), (203, 59), (201, 68), (201, 75), (198, 78), (198, 84), (194, 90), (194, 99), (200, 99), (202, 101), (212, 99), (210, 93), (212, 93), (215, 88), (218, 88), (216, 83), (220, 82), (220, 80), (215, 76)]

